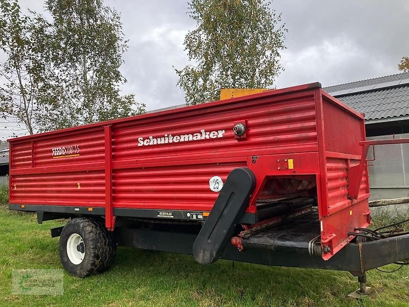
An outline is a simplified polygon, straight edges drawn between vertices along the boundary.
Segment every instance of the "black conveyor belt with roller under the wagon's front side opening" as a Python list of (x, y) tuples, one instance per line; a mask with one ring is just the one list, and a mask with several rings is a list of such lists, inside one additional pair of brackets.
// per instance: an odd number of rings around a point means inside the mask
[(292, 221), (247, 234), (242, 239), (245, 249), (321, 255), (318, 212), (313, 211)]

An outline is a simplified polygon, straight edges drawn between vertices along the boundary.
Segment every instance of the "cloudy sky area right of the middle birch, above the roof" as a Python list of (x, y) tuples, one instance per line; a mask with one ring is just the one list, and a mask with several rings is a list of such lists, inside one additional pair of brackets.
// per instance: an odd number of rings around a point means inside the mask
[(288, 34), (277, 86), (345, 83), (397, 73), (409, 54), (406, 1), (276, 1)]

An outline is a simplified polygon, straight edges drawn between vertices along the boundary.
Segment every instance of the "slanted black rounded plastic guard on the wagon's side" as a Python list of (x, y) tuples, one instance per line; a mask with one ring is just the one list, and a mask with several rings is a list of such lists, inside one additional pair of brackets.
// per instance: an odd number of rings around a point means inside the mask
[(207, 265), (220, 257), (255, 187), (256, 177), (248, 168), (235, 168), (230, 172), (193, 244), (193, 255), (197, 262)]

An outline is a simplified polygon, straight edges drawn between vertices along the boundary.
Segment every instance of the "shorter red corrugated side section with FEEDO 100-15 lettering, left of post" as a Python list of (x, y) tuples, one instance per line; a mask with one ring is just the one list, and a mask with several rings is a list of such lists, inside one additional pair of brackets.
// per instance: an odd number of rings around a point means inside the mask
[(11, 141), (10, 155), (10, 203), (105, 206), (102, 127)]

